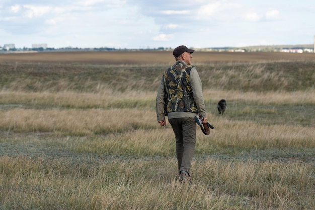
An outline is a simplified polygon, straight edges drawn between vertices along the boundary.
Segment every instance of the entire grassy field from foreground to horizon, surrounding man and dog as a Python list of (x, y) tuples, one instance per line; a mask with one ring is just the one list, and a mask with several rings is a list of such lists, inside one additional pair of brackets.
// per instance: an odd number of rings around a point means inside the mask
[(215, 129), (186, 185), (155, 116), (174, 60), (141, 53), (0, 54), (0, 209), (315, 209), (315, 54), (193, 54)]

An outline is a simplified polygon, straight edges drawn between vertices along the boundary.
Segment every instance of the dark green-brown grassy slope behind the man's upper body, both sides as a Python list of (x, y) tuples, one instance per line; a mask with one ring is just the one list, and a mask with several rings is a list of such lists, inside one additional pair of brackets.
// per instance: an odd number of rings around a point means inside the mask
[[(314, 87), (312, 61), (196, 65), (204, 90), (304, 91)], [(0, 88), (30, 92), (155, 91), (167, 65), (1, 64)]]

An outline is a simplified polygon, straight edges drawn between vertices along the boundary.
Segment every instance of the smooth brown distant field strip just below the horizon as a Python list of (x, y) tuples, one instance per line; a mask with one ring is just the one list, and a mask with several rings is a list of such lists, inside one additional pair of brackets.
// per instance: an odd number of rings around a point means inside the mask
[[(201, 52), (193, 54), (193, 64), (221, 62), (313, 61), (315, 53), (283, 52)], [(35, 52), (0, 54), (0, 63), (78, 63), (109, 65), (172, 64), (172, 51)]]

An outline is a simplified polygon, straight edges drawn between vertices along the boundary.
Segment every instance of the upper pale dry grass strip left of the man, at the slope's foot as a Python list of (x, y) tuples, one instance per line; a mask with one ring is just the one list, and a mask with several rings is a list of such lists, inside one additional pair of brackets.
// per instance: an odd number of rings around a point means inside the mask
[[(102, 89), (103, 90), (103, 89)], [(37, 107), (37, 108), (128, 108), (155, 106), (155, 95), (152, 92), (130, 91), (128, 94), (112, 92), (109, 89), (98, 93), (26, 93), (0, 92), (0, 103), (8, 108)]]

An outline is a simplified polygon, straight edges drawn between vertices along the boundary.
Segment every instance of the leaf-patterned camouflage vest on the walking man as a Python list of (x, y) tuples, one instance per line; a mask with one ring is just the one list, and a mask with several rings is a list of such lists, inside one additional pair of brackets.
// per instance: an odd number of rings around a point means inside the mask
[(198, 113), (189, 78), (193, 66), (176, 62), (164, 73), (164, 86), (167, 93), (166, 112), (184, 111)]

